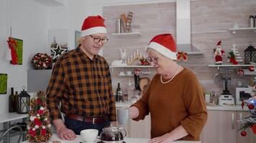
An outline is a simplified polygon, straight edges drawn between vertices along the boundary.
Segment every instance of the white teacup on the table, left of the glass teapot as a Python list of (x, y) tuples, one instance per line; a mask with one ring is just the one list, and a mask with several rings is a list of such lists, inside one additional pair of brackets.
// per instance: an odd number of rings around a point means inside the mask
[(80, 134), (81, 138), (86, 143), (93, 143), (94, 140), (98, 137), (98, 129), (83, 129)]

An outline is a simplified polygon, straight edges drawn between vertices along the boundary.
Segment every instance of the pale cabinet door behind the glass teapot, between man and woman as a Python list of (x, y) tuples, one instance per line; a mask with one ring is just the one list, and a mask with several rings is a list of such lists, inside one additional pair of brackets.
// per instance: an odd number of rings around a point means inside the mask
[(150, 129), (150, 115), (147, 115), (144, 120), (139, 122), (131, 119), (129, 122), (129, 137), (150, 139)]

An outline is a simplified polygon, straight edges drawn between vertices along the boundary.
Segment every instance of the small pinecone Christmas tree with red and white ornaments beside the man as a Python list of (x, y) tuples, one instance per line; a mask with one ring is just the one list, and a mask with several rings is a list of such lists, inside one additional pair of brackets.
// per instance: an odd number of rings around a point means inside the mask
[(46, 95), (37, 92), (37, 96), (31, 99), (29, 122), (27, 124), (27, 139), (29, 142), (47, 142), (52, 137), (50, 125), (50, 112), (46, 108)]

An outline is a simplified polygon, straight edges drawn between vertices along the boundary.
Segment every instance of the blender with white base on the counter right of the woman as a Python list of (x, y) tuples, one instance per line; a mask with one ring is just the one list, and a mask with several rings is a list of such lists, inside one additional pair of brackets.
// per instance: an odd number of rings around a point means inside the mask
[(223, 77), (223, 93), (219, 96), (219, 105), (221, 106), (234, 106), (234, 97), (229, 93), (231, 78)]

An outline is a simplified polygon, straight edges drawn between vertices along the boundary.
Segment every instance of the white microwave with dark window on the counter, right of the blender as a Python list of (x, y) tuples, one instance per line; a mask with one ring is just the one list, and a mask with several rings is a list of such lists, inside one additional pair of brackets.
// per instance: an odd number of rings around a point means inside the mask
[(242, 101), (246, 101), (247, 99), (249, 99), (251, 96), (251, 94), (247, 93), (250, 92), (251, 89), (248, 87), (237, 87), (236, 88), (236, 102), (237, 105), (241, 105)]

